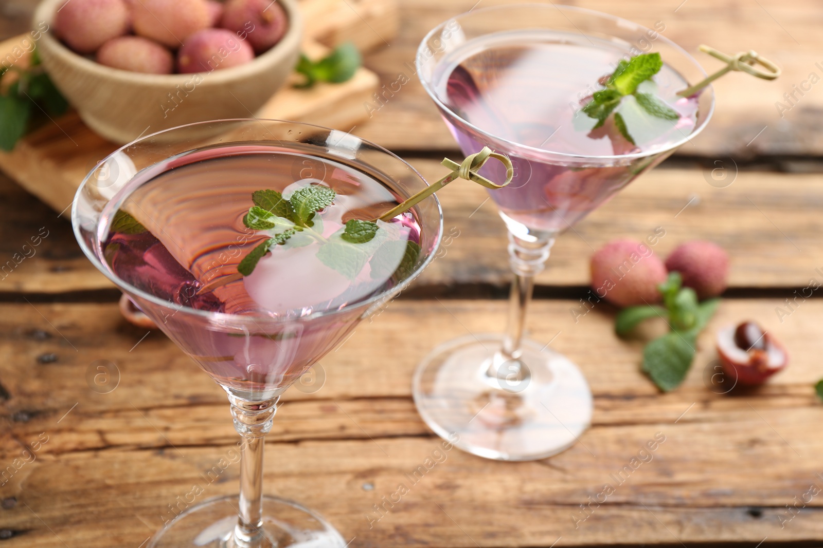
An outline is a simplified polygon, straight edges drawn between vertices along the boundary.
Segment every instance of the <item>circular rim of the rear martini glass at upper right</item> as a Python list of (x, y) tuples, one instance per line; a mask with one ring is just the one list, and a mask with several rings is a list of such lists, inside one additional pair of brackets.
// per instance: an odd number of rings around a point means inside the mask
[[(521, 2), (521, 3), (508, 4), (508, 5), (503, 5), (503, 6), (481, 7), (478, 10), (472, 9), (472, 10), (469, 10), (468, 12), (463, 12), (463, 13), (460, 13), (456, 16), (449, 17), (449, 19), (447, 19), (446, 21), (443, 21), (439, 25), (435, 26), (434, 29), (432, 29), (428, 33), (426, 33), (426, 35), (421, 40), (420, 45), (417, 46), (417, 51), (416, 51), (416, 54), (415, 54), (415, 67), (417, 69), (417, 77), (421, 81), (421, 84), (423, 85), (423, 89), (425, 90), (426, 94), (429, 95), (429, 97), (435, 102), (435, 104), (437, 104), (437, 106), (439, 108), (442, 108), (444, 111), (452, 114), (453, 117), (456, 117), (458, 120), (460, 120), (460, 122), (463, 122), (468, 127), (470, 127), (473, 130), (477, 131), (481, 135), (487, 136), (492, 140), (500, 141), (501, 143), (504, 143), (505, 145), (516, 147), (519, 150), (528, 150), (532, 154), (539, 154), (539, 155), (543, 155), (543, 156), (545, 156), (546, 154), (551, 154), (551, 155), (557, 156), (559, 158), (581, 159), (581, 160), (586, 160), (586, 159), (591, 159), (591, 160), (597, 160), (597, 159), (602, 159), (602, 160), (609, 160), (609, 159), (612, 159), (612, 160), (613, 159), (639, 159), (639, 158), (646, 158), (646, 157), (649, 157), (649, 156), (653, 156), (655, 154), (666, 154), (667, 152), (670, 152), (672, 150), (676, 150), (681, 145), (685, 145), (687, 142), (692, 140), (692, 138), (694, 138), (695, 136), (700, 135), (700, 132), (703, 131), (703, 129), (704, 129), (704, 127), (706, 127), (706, 125), (708, 125), (709, 120), (711, 119), (712, 115), (714, 114), (714, 103), (715, 103), (714, 102), (714, 87), (712, 85), (708, 85), (703, 90), (701, 90), (701, 93), (706, 92), (706, 91), (709, 91), (711, 93), (711, 103), (709, 104), (709, 112), (706, 113), (706, 116), (704, 117), (703, 122), (700, 123), (699, 126), (695, 127), (694, 131), (692, 131), (689, 135), (683, 137), (680, 140), (675, 141), (674, 143), (672, 143), (671, 145), (668, 145), (667, 147), (665, 147), (663, 149), (649, 150), (649, 151), (646, 151), (646, 152), (641, 151), (641, 152), (636, 152), (634, 154), (588, 155), (588, 154), (570, 154), (570, 153), (567, 153), (567, 152), (556, 152), (554, 150), (538, 149), (537, 147), (533, 147), (533, 146), (529, 146), (529, 145), (523, 145), (523, 144), (515, 142), (513, 140), (504, 139), (503, 137), (500, 137), (500, 136), (495, 136), (493, 133), (490, 133), (489, 131), (486, 131), (486, 130), (480, 128), (480, 127), (475, 126), (471, 122), (468, 122), (465, 118), (463, 118), (462, 116), (459, 116), (458, 113), (455, 113), (451, 108), (449, 108), (446, 104), (444, 104), (439, 99), (437, 94), (435, 94), (435, 91), (431, 89), (430, 81), (423, 78), (422, 72), (421, 72), (421, 69), (422, 69), (422, 67), (421, 67), (421, 53), (423, 52), (423, 48), (425, 47), (425, 44), (428, 43), (429, 39), (433, 35), (435, 35), (436, 32), (438, 32), (439, 30), (442, 30), (445, 25), (448, 25), (450, 21), (458, 21), (462, 17), (468, 16), (469, 14), (472, 14), (472, 13), (491, 12), (491, 11), (496, 11), (496, 10), (510, 10), (510, 9), (513, 9), (513, 8), (523, 8), (523, 7), (534, 8), (534, 9), (554, 8), (554, 9), (558, 10), (561, 13), (562, 12), (578, 12), (578, 13), (584, 14), (586, 16), (592, 16), (592, 17), (597, 17), (597, 18), (600, 18), (600, 19), (608, 19), (608, 20), (611, 20), (611, 21), (616, 21), (616, 22), (620, 21), (620, 22), (623, 22), (623, 23), (627, 23), (629, 25), (635, 26), (638, 30), (651, 30), (651, 29), (649, 29), (649, 27), (646, 27), (644, 25), (640, 25), (639, 23), (635, 23), (635, 21), (630, 21), (628, 19), (624, 19), (623, 17), (613, 16), (609, 13), (598, 12), (597, 10), (588, 9), (586, 7), (557, 5), (557, 4), (554, 4), (554, 3), (540, 4), (540, 3), (534, 3), (534, 2), (531, 2), (531, 3), (530, 2)], [(543, 28), (545, 28), (545, 27), (543, 27)], [(580, 31), (580, 34), (584, 35), (582, 30)], [(704, 77), (709, 76), (708, 73), (704, 70), (704, 68), (700, 65), (700, 62), (697, 62), (697, 59), (695, 59), (694, 56), (692, 56), (690, 53), (688, 53), (680, 45), (673, 42), (672, 39), (668, 39), (667, 37), (661, 35), (660, 33), (658, 33), (658, 39), (663, 39), (663, 42), (665, 42), (667, 45), (671, 46), (672, 48), (676, 49), (677, 51), (682, 53), (682, 55), (684, 57), (686, 57), (691, 62), (693, 62), (695, 64), (695, 67), (697, 67), (697, 69), (703, 74)]]

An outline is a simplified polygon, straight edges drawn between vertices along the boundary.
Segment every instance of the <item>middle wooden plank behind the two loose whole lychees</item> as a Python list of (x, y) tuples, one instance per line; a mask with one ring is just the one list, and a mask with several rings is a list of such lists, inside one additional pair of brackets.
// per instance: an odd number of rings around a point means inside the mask
[[(444, 168), (434, 160), (409, 161), (430, 181), (443, 174)], [(67, 174), (73, 167), (72, 177), (79, 177), (81, 165), (68, 151), (63, 165)], [(537, 282), (547, 286), (587, 285), (588, 258), (594, 249), (615, 237), (643, 240), (657, 227), (665, 230), (665, 236), (653, 247), (661, 257), (695, 238), (713, 240), (725, 247), (731, 256), (732, 288), (805, 288), (812, 277), (823, 281), (823, 274), (816, 272), (817, 268), (823, 269), (818, 260), (823, 256), (823, 242), (818, 237), (823, 232), (819, 214), (823, 205), (821, 178), (749, 171), (734, 175), (733, 168), (728, 177), (727, 181), (736, 178), (724, 188), (709, 184), (713, 179), (708, 170), (658, 168), (640, 177), (558, 238), (548, 268)], [(48, 215), (42, 206), (14, 191), (8, 183), (2, 186), (0, 182), (0, 191), (8, 196), (0, 202), (0, 212), (6, 219), (16, 219), (2, 228), (7, 237), (0, 238), (0, 259), (5, 262), (43, 226), (40, 216)], [(439, 192), (439, 196), (444, 207), (443, 248), (438, 259), (421, 274), (416, 287), (441, 292), (461, 284), (504, 288), (510, 279), (505, 229), (494, 203), (486, 200), (486, 191), (458, 182)], [(66, 207), (71, 197), (64, 199), (60, 203)], [(42, 213), (29, 214), (30, 208)], [(13, 276), (4, 278), (0, 274), (0, 291), (57, 293), (111, 287), (82, 258), (67, 223), (54, 220), (48, 227), (52, 234), (49, 238), (58, 235), (53, 241), (60, 253), (43, 253), (22, 261)], [(786, 297), (790, 294), (788, 291)]]

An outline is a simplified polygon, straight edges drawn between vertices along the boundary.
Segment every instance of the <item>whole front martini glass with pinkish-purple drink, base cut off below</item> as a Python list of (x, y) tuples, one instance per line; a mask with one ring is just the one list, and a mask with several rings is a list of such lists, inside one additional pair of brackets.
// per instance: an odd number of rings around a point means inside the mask
[[(240, 258), (265, 238), (244, 228), (252, 192), (285, 193), (295, 182), (337, 191), (334, 205), (314, 216), (314, 227), (328, 232), (341, 214), (373, 219), (426, 187), (398, 156), (355, 136), (255, 119), (136, 140), (77, 191), (72, 224), (86, 256), (226, 390), (242, 436), (239, 496), (186, 509), (149, 546), (346, 546), (317, 513), (263, 496), (263, 436), (281, 394), (430, 262), (442, 216), (430, 196), (392, 219), (402, 246), (420, 247), (396, 270), (379, 274), (371, 266), (370, 275), (349, 279), (314, 258), (310, 250), (320, 244), (295, 240), (238, 279)], [(278, 262), (276, 254), (289, 258)]]

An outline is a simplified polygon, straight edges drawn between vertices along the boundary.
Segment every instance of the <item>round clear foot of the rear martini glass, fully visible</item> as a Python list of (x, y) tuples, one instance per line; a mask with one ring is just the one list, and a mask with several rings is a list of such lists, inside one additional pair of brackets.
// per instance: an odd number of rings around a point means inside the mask
[(480, 457), (535, 460), (570, 448), (592, 420), (583, 374), (533, 341), (517, 362), (495, 362), (503, 338), (469, 335), (435, 348), (415, 372), (417, 411), (437, 435)]

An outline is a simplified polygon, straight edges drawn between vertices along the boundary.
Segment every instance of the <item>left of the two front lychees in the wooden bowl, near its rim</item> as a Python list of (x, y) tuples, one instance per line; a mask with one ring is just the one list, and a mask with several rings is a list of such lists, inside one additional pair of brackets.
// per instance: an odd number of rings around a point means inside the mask
[(97, 62), (106, 67), (147, 74), (171, 74), (171, 52), (142, 36), (119, 36), (110, 39), (97, 51)]

